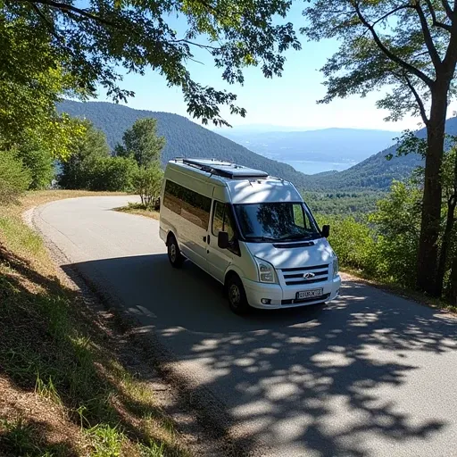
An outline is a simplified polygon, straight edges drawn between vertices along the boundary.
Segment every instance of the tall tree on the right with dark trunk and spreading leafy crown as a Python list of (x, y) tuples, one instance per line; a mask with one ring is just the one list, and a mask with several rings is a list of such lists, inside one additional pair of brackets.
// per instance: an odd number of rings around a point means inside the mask
[(307, 37), (341, 43), (322, 69), (328, 90), (322, 103), (387, 86), (378, 101), (390, 110), (387, 119), (409, 112), (427, 127), (417, 278), (420, 289), (437, 295), (440, 170), (447, 104), (455, 95), (457, 0), (317, 0), (304, 15)]

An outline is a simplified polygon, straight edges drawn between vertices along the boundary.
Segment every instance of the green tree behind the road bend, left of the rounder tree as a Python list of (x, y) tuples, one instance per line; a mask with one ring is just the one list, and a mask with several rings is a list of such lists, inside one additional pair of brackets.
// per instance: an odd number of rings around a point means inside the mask
[(95, 176), (96, 161), (110, 157), (110, 146), (102, 130), (88, 120), (83, 122), (85, 133), (76, 137), (70, 147), (71, 156), (61, 162), (59, 185), (67, 189), (90, 189)]

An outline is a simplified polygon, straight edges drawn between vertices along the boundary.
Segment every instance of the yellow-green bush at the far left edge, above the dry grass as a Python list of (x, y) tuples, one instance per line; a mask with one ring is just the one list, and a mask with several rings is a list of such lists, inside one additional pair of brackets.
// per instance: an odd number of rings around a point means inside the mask
[(29, 188), (31, 180), (16, 151), (0, 151), (0, 204), (14, 202)]

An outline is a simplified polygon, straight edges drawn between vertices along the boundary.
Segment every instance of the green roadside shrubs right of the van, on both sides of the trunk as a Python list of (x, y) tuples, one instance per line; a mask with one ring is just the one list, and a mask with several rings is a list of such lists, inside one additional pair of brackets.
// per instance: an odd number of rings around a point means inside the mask
[[(457, 311), (455, 148), (445, 154), (442, 179), (444, 196), (438, 239), (441, 253), (438, 273), (442, 289), (438, 296), (424, 294), (417, 287), (423, 169), (415, 170), (411, 179), (395, 181), (388, 193), (379, 194), (374, 211), (338, 211), (338, 199), (328, 199), (328, 207), (323, 209), (319, 200), (311, 198), (307, 203), (320, 225), (330, 224), (329, 242), (343, 270), (416, 300)], [(344, 197), (343, 207), (346, 201), (347, 197)]]

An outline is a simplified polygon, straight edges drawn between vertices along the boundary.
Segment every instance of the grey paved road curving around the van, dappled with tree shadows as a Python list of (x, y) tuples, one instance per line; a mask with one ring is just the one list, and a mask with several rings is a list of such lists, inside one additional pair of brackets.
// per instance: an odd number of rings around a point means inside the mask
[(47, 204), (37, 225), (225, 403), (266, 455), (457, 456), (457, 319), (346, 281), (324, 308), (228, 310), (127, 197)]

